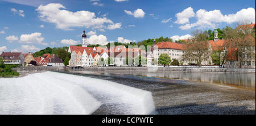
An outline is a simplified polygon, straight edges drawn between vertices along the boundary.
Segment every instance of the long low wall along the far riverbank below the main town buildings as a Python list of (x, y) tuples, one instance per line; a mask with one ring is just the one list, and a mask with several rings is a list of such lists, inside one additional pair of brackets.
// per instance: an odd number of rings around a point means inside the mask
[[(71, 69), (71, 68), (69, 68)], [(93, 67), (72, 70), (108, 71), (108, 70), (145, 70), (150, 72), (221, 72), (221, 73), (255, 73), (255, 69), (238, 68), (146, 68), (146, 67)]]

